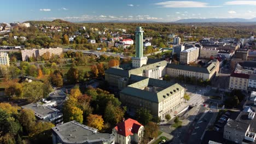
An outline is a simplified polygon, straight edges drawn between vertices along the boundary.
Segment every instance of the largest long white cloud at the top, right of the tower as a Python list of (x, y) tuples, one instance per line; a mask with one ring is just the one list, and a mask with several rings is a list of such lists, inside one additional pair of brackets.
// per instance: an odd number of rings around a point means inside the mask
[(220, 6), (210, 6), (208, 3), (195, 2), (195, 1), (167, 1), (155, 3), (161, 5), (162, 8), (213, 8)]

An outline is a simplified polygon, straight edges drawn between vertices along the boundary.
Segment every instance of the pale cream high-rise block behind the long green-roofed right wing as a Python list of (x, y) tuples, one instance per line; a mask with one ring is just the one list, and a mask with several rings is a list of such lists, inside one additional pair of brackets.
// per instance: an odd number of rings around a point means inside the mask
[(199, 48), (192, 47), (188, 50), (181, 51), (179, 57), (179, 62), (182, 64), (189, 64), (191, 62), (195, 62), (199, 57)]

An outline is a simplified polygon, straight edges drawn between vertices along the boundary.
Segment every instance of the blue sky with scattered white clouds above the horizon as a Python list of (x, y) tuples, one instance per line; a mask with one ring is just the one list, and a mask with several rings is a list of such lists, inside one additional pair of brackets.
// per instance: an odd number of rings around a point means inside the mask
[(0, 0), (0, 22), (158, 21), (256, 17), (256, 0)]

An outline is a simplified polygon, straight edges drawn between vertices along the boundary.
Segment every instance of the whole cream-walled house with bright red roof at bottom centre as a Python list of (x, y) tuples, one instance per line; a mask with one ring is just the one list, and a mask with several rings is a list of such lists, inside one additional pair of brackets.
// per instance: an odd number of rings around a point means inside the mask
[(115, 143), (129, 144), (132, 142), (141, 143), (144, 126), (134, 119), (126, 119), (113, 128)]

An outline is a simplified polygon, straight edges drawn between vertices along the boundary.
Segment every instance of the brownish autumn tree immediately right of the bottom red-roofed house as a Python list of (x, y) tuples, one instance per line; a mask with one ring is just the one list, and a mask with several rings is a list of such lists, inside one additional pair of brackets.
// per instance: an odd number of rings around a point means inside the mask
[(145, 126), (145, 137), (146, 139), (154, 139), (155, 137), (158, 136), (158, 124), (153, 123), (153, 122), (149, 122), (146, 126)]

